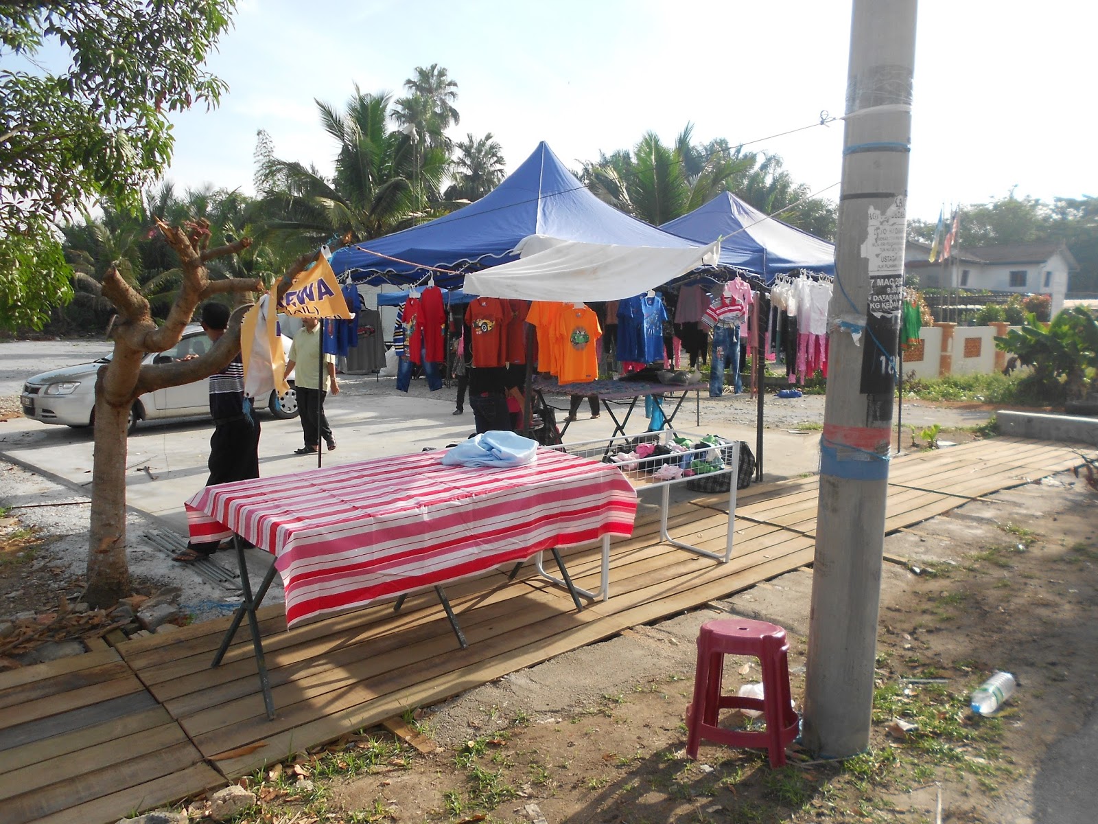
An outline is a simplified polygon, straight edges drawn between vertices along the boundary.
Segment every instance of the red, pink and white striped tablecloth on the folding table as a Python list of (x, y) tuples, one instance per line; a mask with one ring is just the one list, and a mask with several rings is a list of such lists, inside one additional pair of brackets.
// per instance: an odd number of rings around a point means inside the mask
[(477, 575), (553, 546), (628, 536), (637, 493), (609, 464), (539, 448), (514, 468), (445, 450), (206, 487), (191, 541), (236, 532), (274, 555), (287, 623)]

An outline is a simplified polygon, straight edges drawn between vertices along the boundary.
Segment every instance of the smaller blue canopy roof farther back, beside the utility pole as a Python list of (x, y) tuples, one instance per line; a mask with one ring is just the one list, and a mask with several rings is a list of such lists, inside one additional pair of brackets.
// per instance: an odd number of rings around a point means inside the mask
[(660, 229), (697, 244), (722, 238), (720, 263), (762, 275), (766, 282), (793, 269), (834, 274), (834, 245), (768, 218), (731, 192), (721, 192)]

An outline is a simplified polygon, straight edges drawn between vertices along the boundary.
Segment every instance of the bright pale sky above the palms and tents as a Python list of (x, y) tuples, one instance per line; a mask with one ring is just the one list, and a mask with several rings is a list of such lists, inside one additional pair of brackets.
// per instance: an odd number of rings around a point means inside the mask
[[(400, 92), (432, 63), (459, 83), (451, 135), (492, 132), (508, 169), (542, 140), (578, 168), (687, 122), (695, 141), (753, 141), (842, 114), (850, 14), (849, 0), (239, 0), (208, 64), (229, 92), (176, 118), (168, 178), (251, 192), (259, 129), (277, 156), (329, 171), (313, 99), (341, 107), (356, 82)], [(1013, 186), (1098, 194), (1096, 31), (1093, 3), (923, 0), (909, 216)], [(834, 123), (752, 148), (820, 190), (840, 179), (841, 146)]]

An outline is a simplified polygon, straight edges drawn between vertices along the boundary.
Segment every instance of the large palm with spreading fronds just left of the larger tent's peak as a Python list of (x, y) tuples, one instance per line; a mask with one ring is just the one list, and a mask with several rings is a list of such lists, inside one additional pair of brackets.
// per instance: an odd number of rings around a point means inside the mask
[(336, 141), (335, 174), (273, 156), (261, 167), (260, 240), (301, 254), (330, 237), (363, 241), (411, 225), (438, 199), (448, 160), (438, 148), (415, 152), (410, 134), (390, 130), (390, 96), (355, 87), (343, 112), (316, 101), (324, 130)]

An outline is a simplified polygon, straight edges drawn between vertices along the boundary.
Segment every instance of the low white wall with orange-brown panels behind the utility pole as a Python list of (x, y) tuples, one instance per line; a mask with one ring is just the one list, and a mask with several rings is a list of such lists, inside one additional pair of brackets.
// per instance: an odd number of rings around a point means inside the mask
[(995, 338), (1007, 334), (1009, 329), (1005, 323), (993, 326), (957, 326), (953, 323), (923, 326), (919, 332), (919, 343), (904, 353), (904, 377), (914, 374), (916, 378), (939, 378), (1002, 371), (1008, 353), (995, 348)]

